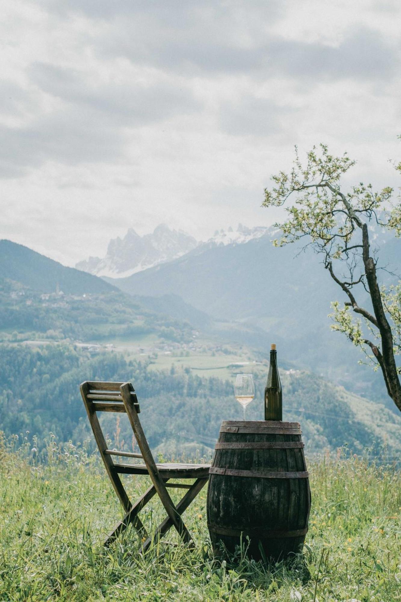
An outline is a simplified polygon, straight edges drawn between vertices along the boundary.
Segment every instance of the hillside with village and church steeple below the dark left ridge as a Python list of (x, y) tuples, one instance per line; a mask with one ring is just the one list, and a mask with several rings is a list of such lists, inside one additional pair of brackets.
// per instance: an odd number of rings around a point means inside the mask
[(0, 277), (0, 340), (94, 341), (156, 334), (181, 341), (191, 332), (188, 323), (157, 314), (117, 290), (41, 293)]

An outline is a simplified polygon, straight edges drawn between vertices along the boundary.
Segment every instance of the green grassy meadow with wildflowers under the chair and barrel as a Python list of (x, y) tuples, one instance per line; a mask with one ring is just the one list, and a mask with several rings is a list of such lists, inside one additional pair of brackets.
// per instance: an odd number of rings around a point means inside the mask
[[(309, 472), (309, 532), (291, 562), (263, 566), (240, 550), (232, 563), (214, 560), (206, 488), (184, 514), (194, 551), (170, 530), (136, 557), (131, 528), (110, 548), (101, 545), (122, 511), (96, 455), (61, 449), (50, 437), (39, 458), (35, 443), (3, 441), (0, 600), (401, 600), (399, 471), (339, 452), (309, 462)], [(148, 480), (129, 478), (135, 500)], [(150, 528), (162, 514), (154, 500), (141, 515)]]

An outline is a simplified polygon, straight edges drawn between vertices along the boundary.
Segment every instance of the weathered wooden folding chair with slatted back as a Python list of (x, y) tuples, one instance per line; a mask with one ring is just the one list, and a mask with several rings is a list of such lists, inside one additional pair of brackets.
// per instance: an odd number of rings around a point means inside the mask
[[(93, 434), (95, 435), (96, 443), (98, 444), (99, 452), (101, 453), (107, 474), (110, 477), (114, 490), (125, 510), (125, 516), (117, 523), (113, 531), (109, 533), (104, 541), (104, 545), (110, 545), (111, 542), (113, 542), (114, 539), (128, 527), (129, 523), (132, 523), (140, 536), (142, 541), (140, 550), (143, 552), (148, 550), (152, 541), (157, 541), (157, 539), (161, 538), (172, 526), (175, 526), (185, 543), (192, 543), (191, 535), (188, 532), (187, 527), (185, 527), (181, 515), (190, 505), (191, 501), (194, 500), (199, 491), (201, 491), (202, 487), (206, 485), (209, 477), (210, 465), (156, 464), (138, 418), (140, 409), (134, 387), (131, 383), (86, 381), (82, 383), (80, 389), (89, 417), (90, 426), (92, 426)], [(126, 412), (141, 453), (119, 452), (107, 448), (107, 443), (97, 415), (97, 412), (101, 411)], [(116, 464), (116, 462), (113, 462), (112, 456), (141, 458), (145, 464)], [(153, 485), (149, 487), (135, 504), (132, 504), (123, 487), (119, 474), (148, 474), (152, 479)], [(168, 482), (170, 479), (196, 480), (190, 485), (187, 483), (170, 483)], [(176, 506), (173, 504), (169, 492), (167, 492), (168, 487), (188, 489), (184, 497), (182, 497)], [(167, 518), (157, 527), (154, 535), (150, 536), (146, 532), (138, 514), (155, 494), (158, 494), (160, 497), (161, 503), (166, 509)]]

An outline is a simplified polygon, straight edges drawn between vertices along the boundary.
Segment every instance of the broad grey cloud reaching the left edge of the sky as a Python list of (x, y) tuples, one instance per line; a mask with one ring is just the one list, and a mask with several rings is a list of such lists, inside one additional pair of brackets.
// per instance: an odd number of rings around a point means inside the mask
[[(130, 130), (201, 107), (185, 83), (180, 87), (166, 78), (104, 83), (83, 71), (45, 63), (32, 64), (27, 73), (30, 83), (51, 98), (51, 110), (39, 108), (22, 125), (0, 126), (0, 175), (5, 177), (23, 175), (45, 161), (119, 161), (135, 139)], [(20, 110), (24, 102), (30, 96), (17, 88), (10, 111)]]

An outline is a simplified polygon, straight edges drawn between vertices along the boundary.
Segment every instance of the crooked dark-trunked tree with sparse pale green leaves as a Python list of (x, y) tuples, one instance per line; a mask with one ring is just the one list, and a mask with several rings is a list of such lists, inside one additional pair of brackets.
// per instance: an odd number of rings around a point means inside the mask
[[(371, 252), (368, 224), (394, 231), (401, 236), (401, 203), (392, 202), (393, 188), (374, 192), (362, 182), (344, 193), (341, 176), (355, 161), (345, 153), (329, 154), (328, 147), (314, 147), (302, 165), (296, 148), (293, 169), (272, 176), (273, 187), (264, 191), (263, 206), (281, 206), (291, 197), (285, 210), (288, 219), (275, 226), (282, 237), (275, 246), (305, 238), (323, 255), (323, 265), (347, 300), (343, 306), (332, 303), (332, 328), (346, 334), (360, 347), (375, 370), (381, 370), (387, 393), (401, 411), (401, 368), (396, 355), (401, 352), (401, 281), (386, 288), (378, 282), (378, 258)], [(401, 172), (401, 163), (396, 166)], [(356, 295), (367, 291), (371, 308), (359, 305)], [(356, 315), (353, 315), (356, 314)]]

